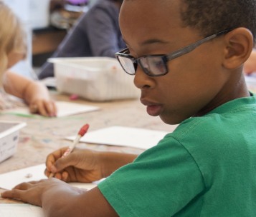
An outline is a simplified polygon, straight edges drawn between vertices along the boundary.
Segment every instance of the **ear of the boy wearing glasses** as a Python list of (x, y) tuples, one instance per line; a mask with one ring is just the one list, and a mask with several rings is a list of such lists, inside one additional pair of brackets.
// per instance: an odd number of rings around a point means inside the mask
[(223, 66), (237, 69), (248, 59), (252, 52), (253, 36), (250, 30), (240, 27), (224, 36), (225, 53)]

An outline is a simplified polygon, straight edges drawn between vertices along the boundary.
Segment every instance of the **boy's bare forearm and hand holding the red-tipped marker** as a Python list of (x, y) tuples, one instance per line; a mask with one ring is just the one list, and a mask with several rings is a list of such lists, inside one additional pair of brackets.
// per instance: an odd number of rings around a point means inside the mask
[(75, 148), (62, 158), (67, 147), (60, 148), (47, 156), (46, 176), (54, 173), (55, 178), (66, 182), (92, 182), (110, 176), (115, 170), (133, 162), (136, 154), (108, 151), (92, 151)]

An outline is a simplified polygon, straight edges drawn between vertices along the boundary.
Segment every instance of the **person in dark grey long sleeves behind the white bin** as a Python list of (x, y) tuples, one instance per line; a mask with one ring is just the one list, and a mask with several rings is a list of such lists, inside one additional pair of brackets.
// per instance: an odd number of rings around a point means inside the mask
[[(63, 39), (52, 57), (108, 56), (125, 48), (118, 16), (123, 0), (99, 0), (83, 14)], [(53, 64), (46, 62), (39, 79), (54, 76)]]

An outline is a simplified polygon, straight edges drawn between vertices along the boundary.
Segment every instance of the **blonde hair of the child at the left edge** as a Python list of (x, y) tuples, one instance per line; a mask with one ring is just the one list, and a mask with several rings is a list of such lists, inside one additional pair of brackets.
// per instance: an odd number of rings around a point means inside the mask
[(11, 52), (27, 53), (26, 36), (16, 15), (0, 0), (0, 83)]

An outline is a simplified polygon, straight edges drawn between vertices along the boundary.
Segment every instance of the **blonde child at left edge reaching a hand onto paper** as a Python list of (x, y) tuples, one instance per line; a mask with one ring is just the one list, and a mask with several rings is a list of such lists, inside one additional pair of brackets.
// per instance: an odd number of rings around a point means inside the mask
[(56, 106), (45, 86), (8, 71), (11, 66), (26, 57), (26, 36), (22, 24), (2, 1), (0, 18), (0, 109), (10, 109), (14, 106), (7, 96), (11, 94), (24, 99), (32, 113), (55, 116)]

